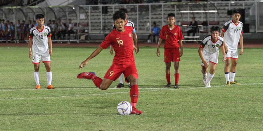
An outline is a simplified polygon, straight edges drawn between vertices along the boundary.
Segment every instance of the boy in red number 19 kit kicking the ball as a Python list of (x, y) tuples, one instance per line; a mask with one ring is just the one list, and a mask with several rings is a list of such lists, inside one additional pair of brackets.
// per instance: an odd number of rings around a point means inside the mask
[(124, 74), (125, 81), (131, 83), (130, 97), (131, 97), (131, 114), (141, 114), (142, 111), (136, 109), (136, 103), (139, 96), (139, 89), (137, 85), (138, 73), (135, 66), (135, 59), (133, 50), (134, 47), (132, 40), (131, 26), (124, 26), (125, 13), (117, 11), (113, 14), (113, 21), (116, 29), (111, 31), (101, 43), (101, 45), (91, 55), (79, 65), (79, 69), (88, 64), (89, 60), (98, 55), (101, 50), (107, 49), (110, 45), (113, 46), (115, 56), (113, 63), (101, 79), (96, 76), (95, 72), (82, 72), (77, 78), (92, 79), (93, 83), (101, 90), (106, 90), (122, 73)]

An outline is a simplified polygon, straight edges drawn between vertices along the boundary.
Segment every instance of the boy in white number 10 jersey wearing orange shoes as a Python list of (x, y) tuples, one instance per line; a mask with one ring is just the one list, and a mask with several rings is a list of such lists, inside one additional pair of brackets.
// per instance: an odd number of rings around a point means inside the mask
[[(40, 89), (39, 84), (39, 63), (40, 60), (44, 63), (46, 67), (46, 78), (47, 78), (47, 88), (54, 89), (51, 85), (52, 72), (50, 66), (50, 56), (52, 55), (52, 41), (51, 41), (51, 30), (49, 26), (44, 26), (44, 15), (36, 15), (37, 26), (31, 28), (29, 33), (29, 58), (32, 57), (32, 63), (34, 64), (34, 79), (37, 84), (35, 89)], [(32, 48), (32, 52), (31, 52)]]

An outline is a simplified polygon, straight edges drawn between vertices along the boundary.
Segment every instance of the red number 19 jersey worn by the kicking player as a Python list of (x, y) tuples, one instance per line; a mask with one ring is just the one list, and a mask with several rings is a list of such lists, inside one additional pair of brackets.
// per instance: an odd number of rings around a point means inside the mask
[(124, 26), (124, 32), (112, 30), (101, 43), (101, 47), (107, 49), (110, 45), (115, 51), (113, 63), (122, 65), (135, 65), (133, 54), (133, 27)]

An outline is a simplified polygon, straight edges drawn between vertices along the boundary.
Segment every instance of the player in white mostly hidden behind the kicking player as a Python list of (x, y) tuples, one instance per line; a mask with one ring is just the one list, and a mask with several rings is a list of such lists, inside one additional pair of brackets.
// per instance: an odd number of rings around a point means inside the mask
[[(137, 51), (136, 51), (136, 54), (139, 52), (139, 47), (138, 47), (138, 39), (137, 39), (137, 34), (135, 32), (135, 29), (134, 29), (134, 24), (133, 22), (127, 20), (128, 18), (128, 10), (126, 8), (120, 8), (119, 11), (122, 11), (125, 13), (125, 26), (131, 26), (133, 28), (133, 31), (132, 31), (132, 36), (133, 36), (133, 40), (135, 42), (135, 47), (137, 48)], [(116, 26), (114, 25), (113, 26), (113, 29), (115, 29)], [(110, 54), (113, 55), (113, 48), (110, 46)], [(120, 80), (120, 83), (116, 86), (117, 88), (122, 88), (124, 87), (124, 84), (123, 84), (123, 73), (122, 75), (120, 75), (119, 77), (119, 80)], [(129, 88), (131, 88), (131, 84), (129, 83)]]

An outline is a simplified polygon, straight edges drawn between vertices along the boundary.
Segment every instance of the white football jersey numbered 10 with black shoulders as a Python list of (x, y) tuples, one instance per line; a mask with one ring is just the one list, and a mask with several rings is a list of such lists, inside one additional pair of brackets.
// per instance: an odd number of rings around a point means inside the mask
[(41, 31), (37, 29), (37, 26), (31, 28), (28, 37), (33, 39), (32, 52), (38, 55), (49, 53), (48, 37), (51, 35), (49, 26), (43, 25)]

